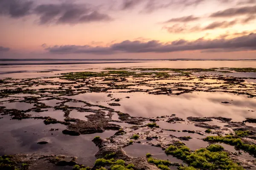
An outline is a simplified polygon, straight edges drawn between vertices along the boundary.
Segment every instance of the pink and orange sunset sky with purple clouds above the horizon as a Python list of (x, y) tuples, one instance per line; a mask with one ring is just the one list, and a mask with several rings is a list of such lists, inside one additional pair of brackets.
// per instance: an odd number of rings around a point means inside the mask
[(256, 59), (256, 0), (0, 0), (0, 58)]

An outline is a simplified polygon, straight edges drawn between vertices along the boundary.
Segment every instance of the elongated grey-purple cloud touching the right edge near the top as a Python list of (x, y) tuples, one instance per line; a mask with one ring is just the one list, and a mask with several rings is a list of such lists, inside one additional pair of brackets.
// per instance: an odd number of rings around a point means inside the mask
[(210, 15), (210, 17), (234, 17), (245, 14), (256, 14), (256, 6), (245, 6), (240, 8), (228, 8)]

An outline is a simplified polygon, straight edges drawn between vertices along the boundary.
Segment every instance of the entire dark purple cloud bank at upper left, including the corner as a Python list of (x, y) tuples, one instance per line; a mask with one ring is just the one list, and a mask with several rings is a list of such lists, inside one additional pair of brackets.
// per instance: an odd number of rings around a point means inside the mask
[(113, 20), (88, 4), (55, 3), (35, 5), (27, 0), (0, 0), (0, 15), (13, 18), (36, 15), (40, 24), (78, 24)]

